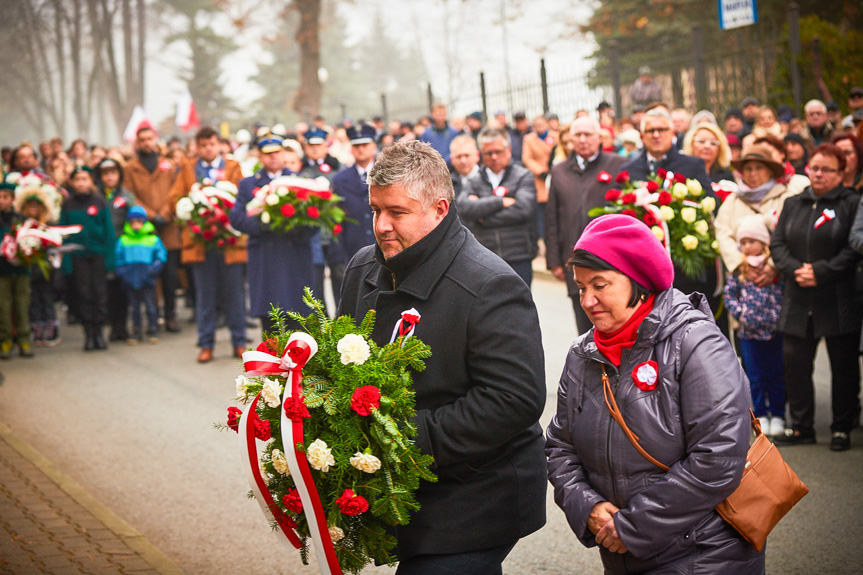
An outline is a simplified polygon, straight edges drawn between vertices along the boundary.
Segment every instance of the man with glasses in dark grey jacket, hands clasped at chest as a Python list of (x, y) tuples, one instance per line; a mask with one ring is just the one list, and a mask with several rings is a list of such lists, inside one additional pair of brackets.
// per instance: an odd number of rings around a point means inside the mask
[(497, 254), (530, 286), (536, 257), (536, 186), (533, 174), (513, 164), (504, 130), (487, 128), (477, 142), (484, 167), (470, 176), (455, 200), (477, 241)]

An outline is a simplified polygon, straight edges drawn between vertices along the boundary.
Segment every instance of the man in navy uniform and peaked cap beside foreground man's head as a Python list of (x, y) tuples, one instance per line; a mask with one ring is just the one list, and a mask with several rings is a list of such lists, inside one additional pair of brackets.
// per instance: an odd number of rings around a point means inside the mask
[(355, 163), (333, 178), (333, 193), (342, 198), (341, 206), (345, 210), (342, 233), (338, 237), (342, 261), (345, 264), (360, 249), (375, 243), (366, 175), (372, 169), (378, 153), (374, 126), (352, 126), (348, 128), (348, 137), (351, 139), (351, 154)]

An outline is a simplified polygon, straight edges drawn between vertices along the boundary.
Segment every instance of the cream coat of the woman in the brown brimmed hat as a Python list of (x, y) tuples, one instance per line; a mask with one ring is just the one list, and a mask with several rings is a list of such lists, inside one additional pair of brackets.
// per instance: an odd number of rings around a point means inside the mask
[[(807, 180), (808, 183), (808, 180)], [(797, 195), (802, 190), (791, 190), (783, 184), (773, 186), (764, 199), (754, 206), (741, 200), (737, 194), (730, 194), (716, 213), (714, 226), (716, 229), (716, 241), (719, 243), (719, 255), (725, 263), (725, 269), (731, 273), (743, 263), (743, 254), (737, 243), (737, 226), (740, 220), (753, 214), (770, 216), (773, 223), (779, 221), (785, 200)]]

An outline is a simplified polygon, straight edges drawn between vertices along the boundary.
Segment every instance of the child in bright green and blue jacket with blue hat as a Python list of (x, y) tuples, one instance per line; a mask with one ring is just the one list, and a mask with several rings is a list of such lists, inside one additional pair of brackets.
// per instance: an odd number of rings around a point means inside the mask
[(147, 221), (147, 212), (141, 206), (129, 208), (123, 235), (117, 240), (115, 254), (116, 274), (123, 282), (129, 305), (132, 306), (132, 333), (129, 345), (143, 339), (141, 332), (141, 304), (147, 312), (147, 338), (156, 343), (158, 308), (156, 307), (156, 278), (168, 259), (156, 228)]

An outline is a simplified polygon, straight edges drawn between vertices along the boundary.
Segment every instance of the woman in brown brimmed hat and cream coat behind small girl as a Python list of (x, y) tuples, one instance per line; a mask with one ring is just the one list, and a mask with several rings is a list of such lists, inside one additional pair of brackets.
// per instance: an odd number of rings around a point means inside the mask
[[(785, 174), (785, 167), (775, 160), (766, 144), (750, 146), (731, 165), (741, 174), (737, 193), (725, 199), (715, 222), (719, 254), (728, 273), (735, 272), (743, 263), (743, 254), (735, 239), (740, 220), (752, 214), (771, 216), (773, 225), (769, 227), (772, 230), (782, 213), (785, 200), (794, 195), (787, 186), (777, 181)], [(760, 270), (752, 269), (751, 273), (748, 279), (761, 286), (772, 282), (777, 274), (772, 262)]]

